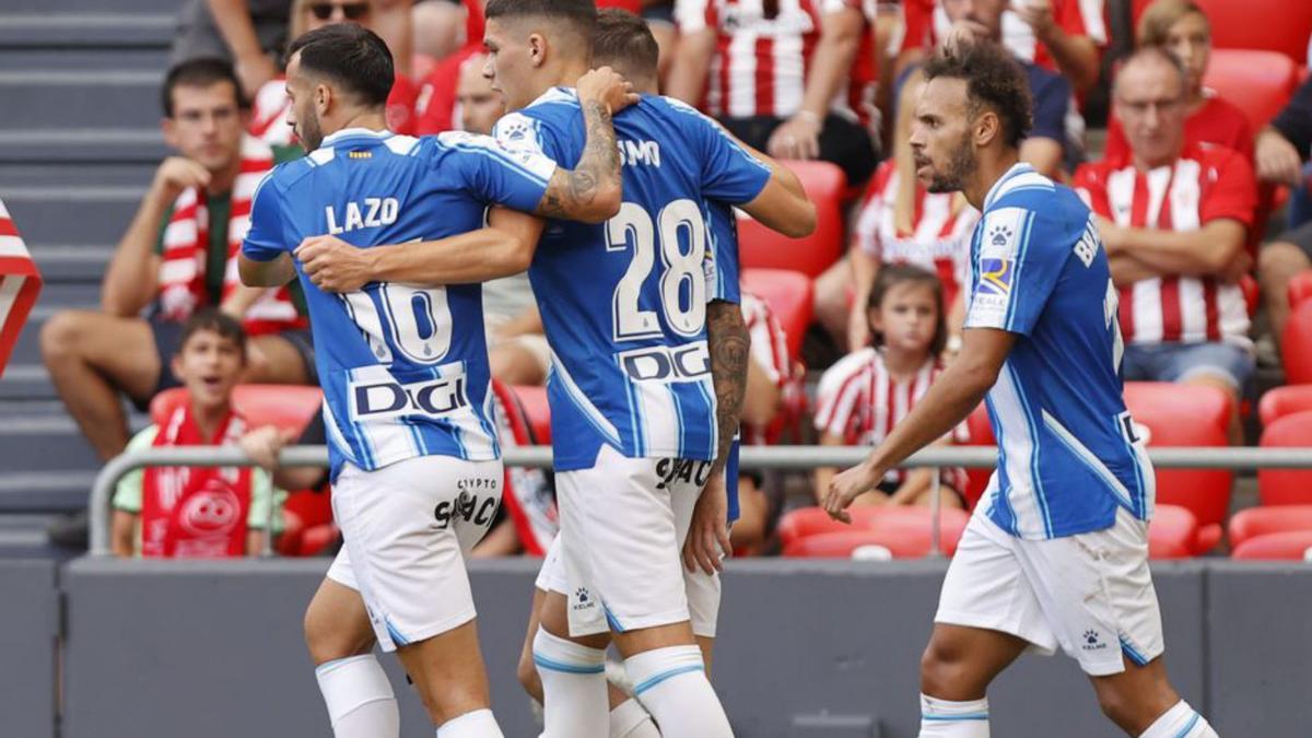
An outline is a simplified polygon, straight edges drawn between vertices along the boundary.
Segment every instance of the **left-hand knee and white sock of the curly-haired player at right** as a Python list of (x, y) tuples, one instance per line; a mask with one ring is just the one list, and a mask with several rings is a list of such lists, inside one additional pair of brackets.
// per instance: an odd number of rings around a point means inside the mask
[(1027, 646), (997, 630), (935, 624), (920, 658), (920, 738), (988, 738), (988, 685)]

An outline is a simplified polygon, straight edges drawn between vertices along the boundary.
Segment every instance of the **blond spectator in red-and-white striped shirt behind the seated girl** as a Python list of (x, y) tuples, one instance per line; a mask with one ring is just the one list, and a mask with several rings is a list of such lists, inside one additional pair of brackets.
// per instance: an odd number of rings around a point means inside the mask
[(960, 277), (966, 272), (979, 211), (960, 194), (933, 194), (916, 180), (911, 123), (924, 87), (918, 71), (911, 72), (903, 83), (897, 93), (893, 158), (875, 169), (848, 259), (816, 280), (816, 316), (846, 351), (870, 345), (866, 303), (884, 264), (909, 261), (937, 273), (943, 285), (943, 301), (950, 306), (949, 345), (960, 334), (964, 316)]

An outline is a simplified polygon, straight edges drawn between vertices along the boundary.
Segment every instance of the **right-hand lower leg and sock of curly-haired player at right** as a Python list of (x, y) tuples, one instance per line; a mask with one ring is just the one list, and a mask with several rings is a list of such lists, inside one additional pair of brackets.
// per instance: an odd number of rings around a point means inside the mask
[(1110, 676), (1092, 676), (1102, 713), (1127, 735), (1144, 738), (1215, 738), (1211, 725), (1194, 712), (1170, 685), (1161, 657), (1139, 666), (1124, 659), (1126, 670)]

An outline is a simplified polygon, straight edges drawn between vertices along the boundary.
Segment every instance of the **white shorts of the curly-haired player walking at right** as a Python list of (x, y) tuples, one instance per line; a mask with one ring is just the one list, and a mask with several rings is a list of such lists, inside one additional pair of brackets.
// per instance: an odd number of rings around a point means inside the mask
[(1008, 534), (976, 512), (943, 579), (935, 622), (1000, 630), (1089, 676), (1140, 666), (1165, 650), (1148, 571), (1148, 525), (1126, 510), (1111, 528), (1047, 541)]

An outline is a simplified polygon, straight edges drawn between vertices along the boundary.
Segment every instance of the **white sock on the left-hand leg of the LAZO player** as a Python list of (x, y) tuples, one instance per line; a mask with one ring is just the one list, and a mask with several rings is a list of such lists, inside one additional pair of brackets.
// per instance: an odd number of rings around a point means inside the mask
[(328, 705), (336, 738), (398, 738), (401, 717), (396, 712), (392, 683), (374, 654), (350, 657), (315, 668), (319, 691)]

